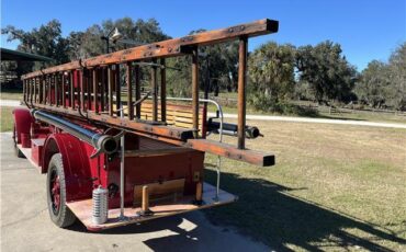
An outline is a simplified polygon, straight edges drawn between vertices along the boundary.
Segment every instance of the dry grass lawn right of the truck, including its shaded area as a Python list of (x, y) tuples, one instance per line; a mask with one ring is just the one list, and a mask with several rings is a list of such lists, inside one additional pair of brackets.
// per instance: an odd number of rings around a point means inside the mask
[[(221, 187), (239, 201), (205, 210), (214, 224), (277, 251), (406, 251), (406, 130), (247, 124), (266, 136), (248, 140), (248, 148), (273, 152), (277, 165), (223, 159)], [(213, 184), (216, 159), (206, 159), (205, 180)]]

